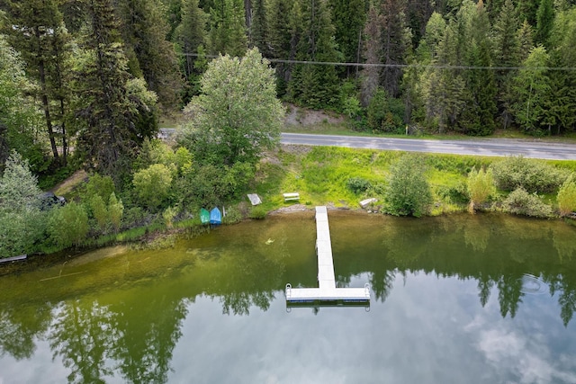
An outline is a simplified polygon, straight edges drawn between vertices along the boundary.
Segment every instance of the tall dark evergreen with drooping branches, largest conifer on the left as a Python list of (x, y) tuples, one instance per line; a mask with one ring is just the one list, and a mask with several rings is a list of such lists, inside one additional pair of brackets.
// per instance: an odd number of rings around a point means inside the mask
[(76, 151), (85, 165), (121, 181), (139, 143), (156, 132), (156, 96), (127, 71), (111, 0), (89, 0), (85, 57), (77, 65), (80, 125)]

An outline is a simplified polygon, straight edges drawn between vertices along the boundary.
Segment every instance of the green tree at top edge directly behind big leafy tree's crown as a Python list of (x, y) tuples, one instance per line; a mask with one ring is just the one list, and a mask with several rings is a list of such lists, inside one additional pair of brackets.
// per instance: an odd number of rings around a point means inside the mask
[(210, 8), (209, 52), (242, 56), (247, 49), (242, 0), (214, 0)]

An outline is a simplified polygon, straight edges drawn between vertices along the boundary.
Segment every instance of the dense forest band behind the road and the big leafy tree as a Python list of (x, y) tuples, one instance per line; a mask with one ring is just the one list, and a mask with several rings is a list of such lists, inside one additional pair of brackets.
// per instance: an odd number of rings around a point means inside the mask
[(126, 169), (207, 63), (257, 48), (284, 101), (356, 129), (576, 129), (574, 0), (5, 0), (0, 148)]

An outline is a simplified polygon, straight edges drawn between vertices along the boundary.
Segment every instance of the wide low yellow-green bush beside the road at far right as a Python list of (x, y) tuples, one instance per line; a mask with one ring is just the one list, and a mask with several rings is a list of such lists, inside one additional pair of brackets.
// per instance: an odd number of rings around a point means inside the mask
[(547, 165), (543, 161), (510, 156), (492, 163), (496, 186), (504, 191), (522, 187), (530, 193), (554, 192), (568, 177), (568, 171)]

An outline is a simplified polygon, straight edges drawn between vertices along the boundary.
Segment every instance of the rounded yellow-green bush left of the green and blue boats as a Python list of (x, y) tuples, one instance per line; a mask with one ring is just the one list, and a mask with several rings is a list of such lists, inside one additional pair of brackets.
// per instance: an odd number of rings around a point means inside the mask
[(166, 165), (153, 164), (134, 174), (132, 183), (139, 201), (149, 209), (155, 210), (168, 197), (172, 173)]

